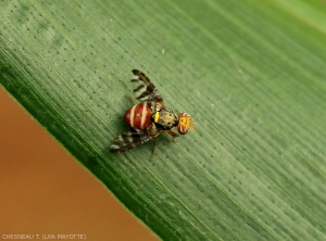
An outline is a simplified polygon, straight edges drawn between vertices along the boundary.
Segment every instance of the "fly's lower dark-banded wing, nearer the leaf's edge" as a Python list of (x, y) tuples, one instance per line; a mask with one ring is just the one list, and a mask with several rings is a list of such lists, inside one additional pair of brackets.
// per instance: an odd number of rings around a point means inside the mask
[(113, 143), (110, 147), (110, 152), (125, 152), (133, 148), (136, 148), (139, 144), (142, 144), (150, 139), (156, 137), (161, 134), (161, 130), (149, 131), (148, 129), (135, 129), (130, 128), (130, 131), (123, 132), (112, 141)]

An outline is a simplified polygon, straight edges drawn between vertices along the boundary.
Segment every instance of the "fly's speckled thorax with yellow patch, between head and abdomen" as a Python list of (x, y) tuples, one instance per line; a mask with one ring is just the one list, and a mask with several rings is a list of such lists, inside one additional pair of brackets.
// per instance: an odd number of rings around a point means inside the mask
[(156, 127), (164, 130), (170, 130), (178, 125), (178, 116), (173, 111), (163, 110), (152, 114), (151, 120)]

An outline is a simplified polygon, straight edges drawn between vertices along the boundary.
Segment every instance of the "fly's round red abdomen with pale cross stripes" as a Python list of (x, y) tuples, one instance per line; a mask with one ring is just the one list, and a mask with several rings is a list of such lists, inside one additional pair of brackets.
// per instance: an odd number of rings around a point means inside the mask
[(126, 123), (136, 129), (145, 129), (151, 124), (151, 110), (147, 104), (136, 104), (125, 113)]

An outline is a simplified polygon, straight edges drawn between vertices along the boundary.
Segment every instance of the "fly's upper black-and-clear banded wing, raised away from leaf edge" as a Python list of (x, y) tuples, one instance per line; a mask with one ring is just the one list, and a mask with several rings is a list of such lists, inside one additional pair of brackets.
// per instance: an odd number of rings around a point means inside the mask
[(160, 94), (156, 87), (151, 83), (151, 80), (140, 71), (133, 69), (134, 77), (133, 83), (139, 83), (138, 87), (134, 89), (135, 97), (140, 102), (156, 102), (161, 107), (165, 109), (165, 104), (162, 96)]

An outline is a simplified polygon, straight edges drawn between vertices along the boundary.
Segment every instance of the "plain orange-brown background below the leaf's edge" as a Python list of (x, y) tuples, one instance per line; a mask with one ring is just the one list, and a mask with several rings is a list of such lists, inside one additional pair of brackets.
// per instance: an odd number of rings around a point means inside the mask
[(3, 234), (158, 240), (0, 87)]

